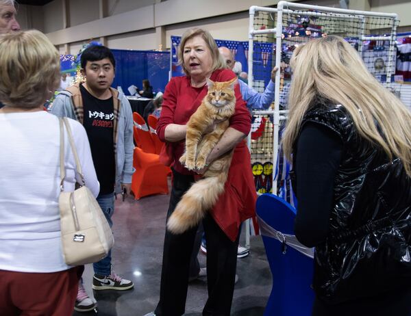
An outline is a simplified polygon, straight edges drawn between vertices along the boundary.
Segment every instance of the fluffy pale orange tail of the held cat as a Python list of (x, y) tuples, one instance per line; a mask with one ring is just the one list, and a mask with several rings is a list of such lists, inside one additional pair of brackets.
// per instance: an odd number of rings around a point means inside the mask
[(222, 172), (194, 183), (178, 202), (173, 214), (167, 222), (171, 233), (181, 234), (189, 228), (197, 226), (224, 192), (227, 174)]

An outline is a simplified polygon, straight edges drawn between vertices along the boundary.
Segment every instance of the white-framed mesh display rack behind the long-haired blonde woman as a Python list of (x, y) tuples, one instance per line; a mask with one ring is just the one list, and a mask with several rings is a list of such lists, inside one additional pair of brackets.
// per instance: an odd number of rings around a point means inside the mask
[[(273, 65), (288, 65), (296, 45), (338, 35), (362, 56), (369, 71), (387, 88), (395, 74), (397, 14), (344, 10), (279, 1), (277, 8), (249, 9), (248, 84), (263, 92)], [(267, 51), (267, 45), (272, 50)], [(272, 60), (267, 60), (267, 56)], [(275, 100), (270, 109), (253, 111), (249, 135), (251, 163), (259, 194), (271, 192), (294, 204), (290, 165), (279, 146), (287, 118), (291, 70), (275, 76)], [(246, 238), (249, 236), (249, 225)], [(249, 239), (246, 242), (249, 246)]]

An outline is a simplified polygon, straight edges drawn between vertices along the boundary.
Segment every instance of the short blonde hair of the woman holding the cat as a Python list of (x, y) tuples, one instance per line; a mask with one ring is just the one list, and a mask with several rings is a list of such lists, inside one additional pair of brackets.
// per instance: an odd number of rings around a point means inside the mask
[(214, 40), (214, 38), (212, 38), (210, 32), (206, 29), (200, 29), (198, 27), (195, 27), (193, 29), (188, 29), (184, 32), (182, 40), (179, 44), (178, 64), (182, 65), (184, 73), (186, 75), (190, 75), (188, 73), (188, 70), (186, 69), (186, 66), (184, 66), (184, 45), (186, 44), (187, 40), (190, 40), (190, 38), (194, 38), (195, 36), (201, 36), (204, 42), (206, 42), (208, 49), (210, 49), (212, 59), (211, 71), (213, 72), (216, 69), (227, 68), (227, 65), (225, 64), (223, 57), (221, 57), (220, 55), (219, 47), (217, 47), (216, 41)]

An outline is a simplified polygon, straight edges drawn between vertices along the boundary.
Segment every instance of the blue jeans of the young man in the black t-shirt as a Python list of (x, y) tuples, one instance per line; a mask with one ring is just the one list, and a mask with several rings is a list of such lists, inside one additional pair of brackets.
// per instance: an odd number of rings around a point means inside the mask
[[(112, 215), (114, 213), (114, 193), (97, 196), (97, 202), (99, 203), (101, 210), (103, 211), (105, 218), (108, 221), (110, 227), (113, 226)], [(95, 274), (101, 276), (110, 276), (111, 274), (111, 250), (108, 255), (100, 261), (93, 263)]]

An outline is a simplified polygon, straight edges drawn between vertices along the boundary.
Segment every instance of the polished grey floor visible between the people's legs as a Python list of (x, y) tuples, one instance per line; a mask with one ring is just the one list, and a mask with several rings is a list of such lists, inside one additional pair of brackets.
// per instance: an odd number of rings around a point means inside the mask
[[(142, 316), (153, 311), (160, 290), (162, 246), (169, 196), (156, 195), (134, 200), (116, 200), (114, 213), (114, 271), (134, 282), (128, 291), (92, 291), (92, 267), (86, 266), (84, 286), (98, 302), (101, 316)], [(244, 241), (244, 237), (240, 239)], [(206, 256), (199, 254), (206, 265)], [(251, 237), (251, 253), (238, 259), (238, 283), (234, 290), (232, 315), (259, 316), (271, 291), (271, 272), (261, 237)], [(94, 292), (94, 293), (93, 293)], [(190, 283), (186, 316), (200, 316), (207, 299), (206, 279)], [(73, 316), (95, 315), (95, 312), (73, 313)]]

